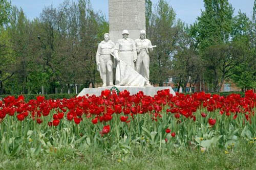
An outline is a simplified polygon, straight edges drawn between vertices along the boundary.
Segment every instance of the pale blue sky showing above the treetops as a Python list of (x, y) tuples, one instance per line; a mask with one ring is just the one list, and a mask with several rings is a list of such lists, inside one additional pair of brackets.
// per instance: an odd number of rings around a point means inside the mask
[[(18, 8), (22, 8), (26, 16), (32, 20), (35, 17), (39, 17), (42, 9), (46, 6), (53, 5), (58, 7), (59, 4), (65, 0), (11, 0), (12, 5), (16, 5)], [(72, 0), (71, 0), (72, 1)], [(73, 0), (77, 1), (77, 0)], [(177, 18), (180, 18), (183, 22), (193, 24), (197, 17), (201, 15), (201, 9), (204, 10), (203, 0), (166, 0), (175, 10)], [(102, 13), (108, 19), (109, 7), (108, 0), (91, 0), (93, 9), (96, 11), (102, 11)], [(152, 0), (155, 6), (158, 0)], [(235, 9), (235, 14), (239, 9), (245, 12), (246, 15), (252, 17), (252, 8), (254, 0), (229, 0), (232, 7)]]

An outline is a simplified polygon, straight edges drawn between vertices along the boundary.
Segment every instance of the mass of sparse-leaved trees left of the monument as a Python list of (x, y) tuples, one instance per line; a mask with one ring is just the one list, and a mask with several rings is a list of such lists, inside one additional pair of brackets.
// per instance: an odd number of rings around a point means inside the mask
[(109, 23), (89, 0), (45, 7), (32, 21), (12, 7), (8, 18), (0, 37), (0, 94), (39, 93), (41, 86), (63, 93), (101, 82), (95, 52)]

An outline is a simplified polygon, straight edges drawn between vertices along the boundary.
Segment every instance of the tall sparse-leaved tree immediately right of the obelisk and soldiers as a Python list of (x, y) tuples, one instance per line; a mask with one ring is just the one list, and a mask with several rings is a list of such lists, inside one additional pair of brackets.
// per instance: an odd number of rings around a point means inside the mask
[(163, 86), (172, 77), (172, 58), (179, 43), (183, 23), (176, 20), (176, 13), (166, 1), (159, 0), (150, 21), (150, 36), (157, 48), (151, 55), (151, 82)]

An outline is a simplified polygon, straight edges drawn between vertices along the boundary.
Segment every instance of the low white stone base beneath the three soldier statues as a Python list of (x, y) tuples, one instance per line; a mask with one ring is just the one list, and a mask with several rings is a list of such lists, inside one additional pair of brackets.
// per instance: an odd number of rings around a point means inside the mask
[[(82, 89), (82, 91), (77, 95), (78, 96), (84, 96), (86, 94), (89, 95), (96, 95), (99, 96), (101, 95), (101, 91), (105, 90), (105, 89), (111, 89), (113, 86), (108, 86), (108, 87), (99, 87), (99, 88), (84, 88)], [(169, 89), (170, 93), (175, 95), (175, 91), (172, 89), (172, 87), (170, 86), (166, 86), (166, 87), (153, 87), (153, 86), (145, 86), (145, 87), (134, 87), (134, 86), (114, 86), (116, 88), (118, 88), (119, 91), (124, 91), (127, 90), (130, 92), (130, 94), (136, 94), (139, 91), (143, 91), (143, 93), (145, 95), (150, 95), (150, 96), (154, 96), (155, 94), (157, 94), (157, 91), (159, 90), (164, 90), (164, 89)]]

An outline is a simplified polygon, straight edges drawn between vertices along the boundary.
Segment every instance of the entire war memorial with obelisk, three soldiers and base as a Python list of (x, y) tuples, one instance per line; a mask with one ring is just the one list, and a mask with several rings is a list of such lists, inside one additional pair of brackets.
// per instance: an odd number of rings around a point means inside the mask
[(158, 90), (169, 89), (175, 95), (172, 87), (150, 84), (150, 52), (157, 45), (146, 38), (145, 0), (109, 0), (109, 23), (110, 33), (104, 34), (95, 52), (103, 85), (84, 88), (78, 96), (100, 95), (102, 90), (113, 87), (131, 94), (143, 91), (151, 96)]

